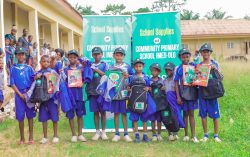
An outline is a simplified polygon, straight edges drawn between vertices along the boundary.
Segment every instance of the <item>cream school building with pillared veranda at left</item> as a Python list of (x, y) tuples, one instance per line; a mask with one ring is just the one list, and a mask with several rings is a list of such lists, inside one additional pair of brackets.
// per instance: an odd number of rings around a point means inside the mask
[(27, 28), (40, 48), (46, 42), (82, 52), (82, 17), (66, 0), (0, 0), (1, 47), (13, 24), (17, 39)]

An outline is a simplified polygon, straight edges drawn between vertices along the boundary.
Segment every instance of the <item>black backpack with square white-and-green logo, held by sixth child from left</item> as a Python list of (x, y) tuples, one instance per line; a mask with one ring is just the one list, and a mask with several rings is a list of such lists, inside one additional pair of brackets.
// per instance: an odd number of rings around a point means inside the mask
[(146, 83), (142, 78), (135, 78), (132, 83), (128, 99), (128, 109), (135, 113), (144, 113), (147, 110), (147, 92), (144, 90)]

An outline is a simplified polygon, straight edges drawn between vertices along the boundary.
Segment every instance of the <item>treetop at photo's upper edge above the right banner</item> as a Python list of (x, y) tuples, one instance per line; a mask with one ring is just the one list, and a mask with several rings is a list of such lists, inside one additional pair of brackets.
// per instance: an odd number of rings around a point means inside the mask
[(157, 0), (152, 4), (152, 10), (159, 11), (176, 11), (180, 10), (187, 0)]

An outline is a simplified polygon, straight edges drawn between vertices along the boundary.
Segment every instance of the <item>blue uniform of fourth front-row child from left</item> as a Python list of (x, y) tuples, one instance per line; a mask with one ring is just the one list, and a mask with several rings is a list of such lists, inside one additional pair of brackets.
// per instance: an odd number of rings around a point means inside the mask
[[(92, 66), (101, 70), (102, 72), (106, 72), (108, 70), (108, 65), (105, 62), (100, 62), (98, 64), (92, 63)], [(97, 72), (94, 72), (93, 79), (98, 79), (98, 78), (101, 78), (101, 76)], [(99, 84), (100, 82), (98, 84), (94, 84), (94, 82), (90, 82), (88, 85), (97, 87), (97, 85)], [(103, 108), (103, 103), (98, 101), (99, 95), (97, 93), (95, 95), (93, 93), (91, 94), (87, 93), (87, 94), (88, 94), (88, 99), (89, 99), (90, 112), (103, 112), (106, 110), (105, 108)]]

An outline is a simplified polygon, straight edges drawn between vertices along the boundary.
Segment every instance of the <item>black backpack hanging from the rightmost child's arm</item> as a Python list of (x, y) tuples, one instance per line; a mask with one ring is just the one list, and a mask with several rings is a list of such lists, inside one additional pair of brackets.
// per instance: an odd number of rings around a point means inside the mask
[(224, 86), (219, 79), (219, 74), (215, 71), (215, 69), (211, 69), (210, 74), (212, 74), (213, 78), (208, 80), (207, 87), (199, 87), (200, 94), (203, 99), (216, 99), (220, 98), (224, 95), (225, 90)]

